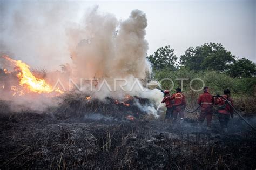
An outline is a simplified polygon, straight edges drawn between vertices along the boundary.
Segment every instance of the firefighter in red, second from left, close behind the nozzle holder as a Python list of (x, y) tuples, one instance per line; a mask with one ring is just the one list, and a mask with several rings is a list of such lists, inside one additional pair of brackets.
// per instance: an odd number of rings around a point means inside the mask
[(174, 100), (172, 118), (177, 119), (179, 114), (180, 119), (184, 119), (183, 110), (186, 107), (186, 99), (179, 87), (176, 89), (176, 93), (172, 95), (171, 100)]

